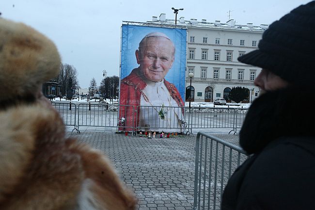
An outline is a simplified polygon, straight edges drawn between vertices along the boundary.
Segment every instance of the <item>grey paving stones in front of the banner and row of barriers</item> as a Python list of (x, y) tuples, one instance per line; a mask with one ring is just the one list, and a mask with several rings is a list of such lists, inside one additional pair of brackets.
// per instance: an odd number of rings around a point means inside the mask
[[(233, 144), (237, 135), (211, 134)], [(114, 132), (67, 132), (103, 151), (136, 194), (139, 210), (191, 210), (196, 136), (146, 139)]]

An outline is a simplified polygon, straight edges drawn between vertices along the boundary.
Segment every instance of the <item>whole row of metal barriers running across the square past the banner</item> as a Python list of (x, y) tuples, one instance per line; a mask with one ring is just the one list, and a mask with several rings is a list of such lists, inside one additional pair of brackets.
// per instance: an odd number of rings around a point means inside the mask
[[(119, 130), (164, 130), (192, 133), (192, 129), (241, 128), (247, 109), (206, 107), (162, 107), (52, 102), (62, 115), (64, 124), (79, 127), (110, 127)], [(118, 113), (124, 116), (122, 122)], [(184, 112), (182, 112), (184, 111)], [(141, 112), (141, 115), (140, 115)]]

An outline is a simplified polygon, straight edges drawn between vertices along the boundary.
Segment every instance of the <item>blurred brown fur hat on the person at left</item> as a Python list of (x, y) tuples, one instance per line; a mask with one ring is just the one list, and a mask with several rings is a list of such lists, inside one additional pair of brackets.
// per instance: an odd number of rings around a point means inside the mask
[(44, 81), (57, 77), (60, 62), (56, 46), (46, 36), (23, 23), (0, 18), (1, 97), (33, 94)]

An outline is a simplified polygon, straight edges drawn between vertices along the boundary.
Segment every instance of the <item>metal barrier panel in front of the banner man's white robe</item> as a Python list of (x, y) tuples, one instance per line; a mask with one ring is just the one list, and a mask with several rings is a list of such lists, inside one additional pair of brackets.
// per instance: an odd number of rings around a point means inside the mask
[(185, 107), (137, 106), (137, 130), (185, 132), (187, 120)]

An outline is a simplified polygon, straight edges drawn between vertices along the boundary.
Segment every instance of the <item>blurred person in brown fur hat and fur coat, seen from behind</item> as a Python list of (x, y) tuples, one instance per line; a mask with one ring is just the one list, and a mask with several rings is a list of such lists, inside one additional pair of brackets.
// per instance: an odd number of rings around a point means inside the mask
[(109, 160), (67, 139), (41, 94), (60, 62), (46, 36), (0, 18), (0, 209), (134, 210)]

